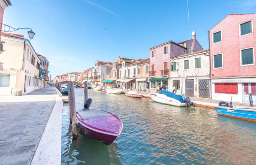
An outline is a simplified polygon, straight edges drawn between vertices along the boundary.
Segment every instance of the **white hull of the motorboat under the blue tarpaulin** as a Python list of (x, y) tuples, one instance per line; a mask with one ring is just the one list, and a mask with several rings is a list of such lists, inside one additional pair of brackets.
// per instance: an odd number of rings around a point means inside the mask
[(158, 103), (162, 103), (162, 104), (168, 104), (168, 105), (171, 105), (171, 106), (186, 106), (185, 103), (181, 103), (180, 101), (176, 100), (176, 99), (173, 99), (171, 97), (167, 97), (166, 95), (164, 94), (158, 94), (158, 93), (154, 93), (154, 94), (148, 94), (149, 97), (158, 102)]

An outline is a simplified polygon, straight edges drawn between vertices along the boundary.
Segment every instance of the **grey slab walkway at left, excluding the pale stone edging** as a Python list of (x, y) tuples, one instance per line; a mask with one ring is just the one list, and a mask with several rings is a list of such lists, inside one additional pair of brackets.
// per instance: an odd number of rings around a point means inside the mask
[(0, 165), (29, 165), (55, 106), (55, 87), (0, 96)]

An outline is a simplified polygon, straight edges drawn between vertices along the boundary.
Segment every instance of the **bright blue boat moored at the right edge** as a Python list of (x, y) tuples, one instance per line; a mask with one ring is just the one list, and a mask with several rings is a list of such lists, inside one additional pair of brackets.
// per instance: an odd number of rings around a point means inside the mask
[(255, 106), (232, 106), (232, 101), (230, 104), (220, 101), (215, 108), (219, 115), (256, 122)]

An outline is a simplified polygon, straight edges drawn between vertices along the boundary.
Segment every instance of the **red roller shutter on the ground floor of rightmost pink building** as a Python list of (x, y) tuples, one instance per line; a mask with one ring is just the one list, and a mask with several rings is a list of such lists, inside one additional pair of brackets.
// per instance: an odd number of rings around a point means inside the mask
[(237, 83), (215, 83), (215, 93), (237, 94)]

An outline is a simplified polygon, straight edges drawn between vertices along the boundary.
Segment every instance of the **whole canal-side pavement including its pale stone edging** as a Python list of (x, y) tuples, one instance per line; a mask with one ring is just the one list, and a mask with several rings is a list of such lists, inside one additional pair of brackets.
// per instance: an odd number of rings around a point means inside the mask
[(0, 165), (60, 165), (63, 101), (47, 86), (0, 96)]

